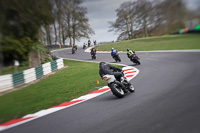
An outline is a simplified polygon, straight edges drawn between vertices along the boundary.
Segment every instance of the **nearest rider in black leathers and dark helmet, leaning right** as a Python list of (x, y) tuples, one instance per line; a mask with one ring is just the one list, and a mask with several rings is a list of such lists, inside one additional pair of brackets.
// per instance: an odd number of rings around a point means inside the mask
[[(113, 72), (113, 71), (117, 71), (117, 72)], [(106, 64), (105, 62), (100, 62), (99, 75), (101, 76), (101, 78), (103, 78), (103, 76), (106, 74), (114, 75), (118, 81), (120, 81), (120, 78), (123, 76), (121, 69), (115, 66), (112, 66), (110, 64)]]

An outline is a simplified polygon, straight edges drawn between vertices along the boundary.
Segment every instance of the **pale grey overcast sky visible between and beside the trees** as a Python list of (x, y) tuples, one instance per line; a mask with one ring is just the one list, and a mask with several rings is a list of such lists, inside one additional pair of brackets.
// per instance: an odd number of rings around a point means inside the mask
[[(115, 10), (120, 5), (129, 0), (84, 0), (82, 6), (87, 8), (86, 16), (89, 18), (89, 24), (95, 31), (95, 35), (91, 36), (91, 41), (94, 39), (98, 42), (104, 41), (116, 41), (117, 36), (114, 32), (108, 32), (108, 21), (114, 22), (116, 20)], [(200, 0), (184, 0), (187, 2), (189, 8), (196, 8), (200, 4)], [(82, 39), (78, 42), (79, 46), (82, 46), (88, 39)], [(93, 44), (93, 43), (92, 43)]]

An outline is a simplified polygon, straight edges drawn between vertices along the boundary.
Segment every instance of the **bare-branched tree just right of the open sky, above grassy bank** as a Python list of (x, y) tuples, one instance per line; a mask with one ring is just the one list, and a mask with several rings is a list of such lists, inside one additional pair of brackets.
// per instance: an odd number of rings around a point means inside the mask
[(109, 31), (119, 32), (118, 40), (133, 39), (137, 36), (138, 30), (142, 30), (147, 37), (148, 28), (151, 27), (154, 19), (152, 9), (151, 2), (146, 0), (122, 3), (116, 10), (116, 21), (109, 22)]

